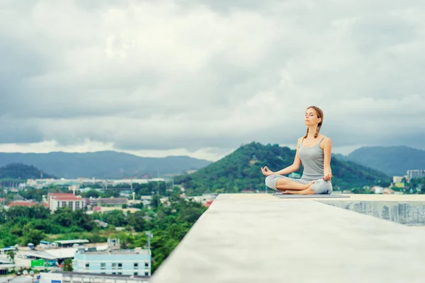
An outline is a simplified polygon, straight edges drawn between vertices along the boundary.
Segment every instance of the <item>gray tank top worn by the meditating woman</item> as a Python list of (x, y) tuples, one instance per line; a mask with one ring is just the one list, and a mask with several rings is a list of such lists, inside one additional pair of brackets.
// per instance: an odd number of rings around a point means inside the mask
[[(323, 138), (324, 139), (324, 138)], [(320, 148), (320, 143), (311, 147), (302, 146), (300, 144), (300, 149), (298, 149), (298, 156), (300, 156), (302, 166), (304, 166), (304, 171), (302, 171), (302, 179), (304, 180), (317, 180), (322, 179), (324, 176), (323, 168), (323, 149)], [(302, 139), (304, 141), (304, 139)]]

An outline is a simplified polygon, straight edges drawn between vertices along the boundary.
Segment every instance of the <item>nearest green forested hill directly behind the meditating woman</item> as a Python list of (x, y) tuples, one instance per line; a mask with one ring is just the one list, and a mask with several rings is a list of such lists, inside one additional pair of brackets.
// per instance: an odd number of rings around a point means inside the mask
[[(183, 185), (188, 195), (203, 192), (240, 192), (242, 190), (263, 190), (265, 176), (261, 167), (268, 166), (278, 171), (293, 163), (295, 150), (277, 144), (266, 146), (252, 142), (219, 161), (190, 175), (175, 178), (175, 183)], [(331, 158), (332, 185), (334, 190), (348, 190), (364, 185), (389, 183), (390, 178), (379, 171), (358, 165), (351, 161)], [(302, 174), (302, 168), (297, 173)]]

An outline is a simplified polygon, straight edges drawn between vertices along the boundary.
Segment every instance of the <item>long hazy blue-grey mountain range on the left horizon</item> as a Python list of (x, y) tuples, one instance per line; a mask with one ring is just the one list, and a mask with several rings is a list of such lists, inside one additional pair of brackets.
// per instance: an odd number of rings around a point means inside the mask
[(166, 173), (184, 173), (199, 169), (211, 161), (188, 156), (164, 158), (140, 157), (116, 151), (89, 153), (51, 152), (49, 154), (0, 153), (0, 166), (8, 163), (32, 165), (56, 175), (58, 178), (137, 178), (143, 175), (157, 176)]

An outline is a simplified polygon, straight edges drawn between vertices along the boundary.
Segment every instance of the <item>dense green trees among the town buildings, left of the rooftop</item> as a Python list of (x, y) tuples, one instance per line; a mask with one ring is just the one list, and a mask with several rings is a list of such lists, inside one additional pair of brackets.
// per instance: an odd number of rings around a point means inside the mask
[[(10, 207), (0, 210), (0, 248), (28, 243), (38, 245), (41, 240), (55, 241), (86, 238), (91, 243), (104, 243), (107, 238), (120, 238), (121, 248), (147, 246), (146, 231), (153, 234), (151, 241), (152, 268), (156, 270), (179, 244), (183, 236), (199, 218), (205, 207), (179, 197), (179, 190), (167, 192), (169, 204), (162, 204), (154, 196), (152, 209), (141, 209), (125, 214), (118, 209), (103, 214), (86, 214), (84, 210), (73, 212), (69, 208), (58, 209), (55, 214), (42, 207)], [(94, 220), (108, 223), (101, 228)], [(116, 231), (115, 227), (123, 227)], [(71, 267), (69, 267), (71, 268)]]

